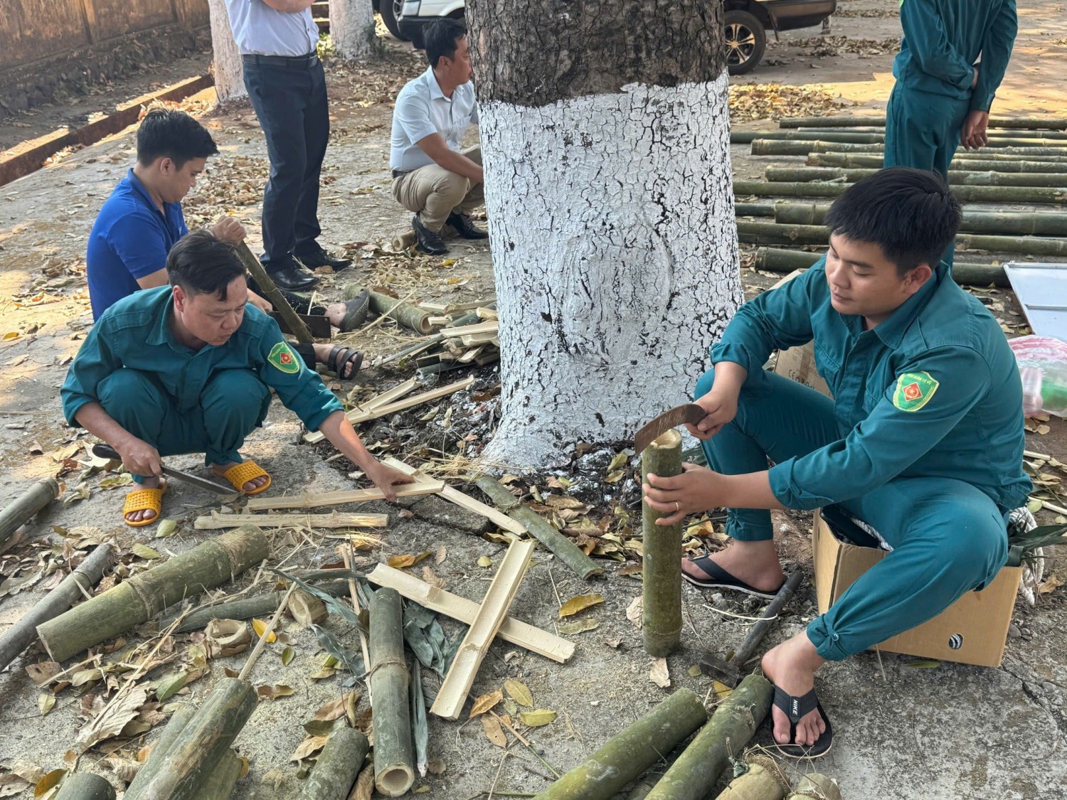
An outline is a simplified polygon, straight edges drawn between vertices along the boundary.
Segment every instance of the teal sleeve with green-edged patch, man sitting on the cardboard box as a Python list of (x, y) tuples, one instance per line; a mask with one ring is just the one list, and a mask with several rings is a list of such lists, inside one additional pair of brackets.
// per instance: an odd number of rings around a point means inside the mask
[(945, 347), (897, 374), (848, 435), (770, 468), (770, 491), (786, 508), (815, 509), (883, 485), (937, 445), (992, 385), (976, 351)]

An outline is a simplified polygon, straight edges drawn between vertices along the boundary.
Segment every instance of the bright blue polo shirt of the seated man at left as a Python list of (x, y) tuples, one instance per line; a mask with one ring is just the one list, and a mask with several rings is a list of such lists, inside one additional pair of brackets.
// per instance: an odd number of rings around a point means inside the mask
[(126, 173), (96, 215), (85, 274), (93, 319), (141, 287), (137, 279), (166, 267), (166, 254), (189, 233), (180, 203), (156, 207), (133, 171)]

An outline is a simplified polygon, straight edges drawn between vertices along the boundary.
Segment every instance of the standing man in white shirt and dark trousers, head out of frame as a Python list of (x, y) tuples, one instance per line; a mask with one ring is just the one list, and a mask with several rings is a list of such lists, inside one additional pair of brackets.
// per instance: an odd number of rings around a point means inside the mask
[(270, 158), (264, 192), (264, 268), (290, 291), (318, 279), (303, 269), (341, 269), (316, 241), (319, 173), (330, 138), (325, 75), (316, 54), (319, 29), (313, 0), (226, 0), (229, 27), (241, 53), (244, 86)]

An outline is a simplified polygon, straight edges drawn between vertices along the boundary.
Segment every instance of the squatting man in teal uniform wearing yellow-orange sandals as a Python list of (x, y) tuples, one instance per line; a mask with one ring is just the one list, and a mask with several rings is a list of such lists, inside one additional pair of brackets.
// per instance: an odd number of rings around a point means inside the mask
[(128, 525), (159, 517), (160, 457), (205, 452), (234, 489), (258, 494), (270, 476), (238, 450), (262, 423), (271, 389), (394, 499), (402, 473), (376, 461), (340, 402), (286, 343), (277, 323), (246, 303), (244, 268), (211, 234), (186, 235), (166, 259), (170, 286), (130, 294), (93, 325), (63, 383), (63, 413), (110, 444), (140, 489)]

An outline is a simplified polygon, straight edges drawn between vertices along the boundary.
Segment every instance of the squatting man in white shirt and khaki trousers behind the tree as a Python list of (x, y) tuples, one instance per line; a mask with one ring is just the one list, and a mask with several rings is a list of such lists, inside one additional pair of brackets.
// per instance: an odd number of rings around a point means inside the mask
[(466, 129), (478, 124), (466, 28), (455, 19), (428, 26), (426, 60), (429, 68), (397, 96), (389, 169), (393, 196), (415, 212), (418, 249), (442, 255), (448, 252), (441, 238), (446, 223), (464, 239), (489, 236), (471, 221), (484, 202), (481, 148), (460, 150)]

